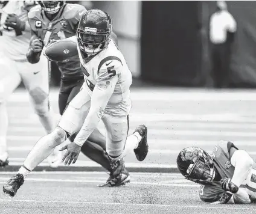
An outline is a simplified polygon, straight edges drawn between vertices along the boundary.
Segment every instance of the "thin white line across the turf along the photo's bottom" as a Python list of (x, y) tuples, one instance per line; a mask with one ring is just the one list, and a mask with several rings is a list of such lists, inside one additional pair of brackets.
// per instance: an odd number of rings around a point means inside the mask
[(170, 205), (170, 204), (135, 204), (135, 203), (114, 203), (114, 202), (91, 202), (91, 201), (53, 201), (53, 200), (18, 200), (18, 199), (0, 199), (6, 202), (28, 202), (28, 203), (64, 203), (64, 204), (89, 204), (104, 206), (141, 206), (141, 207), (176, 207), (176, 208), (196, 208), (196, 209), (223, 209), (223, 210), (256, 210), (256, 208), (231, 207), (231, 206), (191, 206), (191, 205)]

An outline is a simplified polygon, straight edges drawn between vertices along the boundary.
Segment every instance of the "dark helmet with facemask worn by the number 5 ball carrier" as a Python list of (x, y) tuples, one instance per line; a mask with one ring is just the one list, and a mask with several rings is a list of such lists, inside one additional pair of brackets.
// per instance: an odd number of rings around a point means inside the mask
[(111, 31), (112, 20), (109, 14), (97, 9), (88, 10), (78, 24), (78, 47), (84, 54), (98, 54), (107, 48)]

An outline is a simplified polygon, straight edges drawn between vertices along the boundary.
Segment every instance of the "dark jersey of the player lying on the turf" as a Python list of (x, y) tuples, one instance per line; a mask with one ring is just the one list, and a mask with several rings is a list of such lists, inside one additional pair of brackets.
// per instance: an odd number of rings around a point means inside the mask
[[(220, 141), (213, 150), (214, 167), (221, 179), (225, 177), (232, 179), (234, 174), (235, 168), (231, 165), (229, 159), (229, 151), (231, 147), (235, 147), (232, 142)], [(200, 185), (199, 196), (202, 201), (217, 201), (222, 197), (223, 193), (224, 191), (220, 182), (214, 181), (209, 185)]]

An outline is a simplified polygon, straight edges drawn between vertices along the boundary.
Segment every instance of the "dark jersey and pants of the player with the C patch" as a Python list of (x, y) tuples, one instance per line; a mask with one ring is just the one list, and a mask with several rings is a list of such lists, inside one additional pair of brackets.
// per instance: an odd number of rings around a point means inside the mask
[[(78, 4), (65, 4), (53, 20), (49, 20), (37, 5), (28, 13), (28, 21), (33, 34), (43, 41), (46, 47), (51, 40), (60, 40), (75, 35), (80, 17), (86, 9)], [(59, 110), (63, 114), (66, 105), (80, 90), (84, 79), (80, 68), (78, 55), (69, 58), (67, 62), (57, 62), (61, 72), (61, 84), (59, 93)]]

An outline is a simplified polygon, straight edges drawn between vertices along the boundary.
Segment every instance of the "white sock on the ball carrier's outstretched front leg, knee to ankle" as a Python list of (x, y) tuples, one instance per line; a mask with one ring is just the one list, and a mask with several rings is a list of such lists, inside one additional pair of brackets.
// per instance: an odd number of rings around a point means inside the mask
[[(59, 134), (56, 134), (59, 132)], [(64, 130), (54, 130), (49, 135), (43, 136), (36, 145), (32, 148), (23, 165), (28, 170), (34, 170), (46, 157), (48, 157), (57, 145), (60, 145), (66, 139), (66, 132)]]

